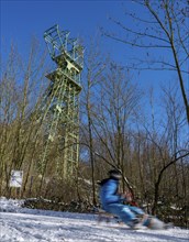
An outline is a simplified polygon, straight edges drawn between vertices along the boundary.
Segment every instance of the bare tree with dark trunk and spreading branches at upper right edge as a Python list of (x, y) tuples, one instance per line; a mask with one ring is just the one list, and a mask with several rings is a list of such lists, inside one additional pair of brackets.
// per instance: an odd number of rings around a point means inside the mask
[[(134, 3), (137, 12), (132, 11)], [(189, 75), (188, 1), (133, 0), (127, 2), (126, 6), (130, 8), (129, 11), (125, 10), (124, 12), (127, 24), (111, 19), (122, 30), (123, 35), (108, 33), (107, 31), (103, 31), (103, 33), (136, 51), (144, 51), (140, 52), (142, 58), (138, 56), (133, 58), (134, 61), (131, 61), (129, 68), (135, 70), (173, 70), (177, 73), (189, 123), (189, 103), (187, 99)], [(144, 18), (141, 16), (141, 12), (144, 13)]]

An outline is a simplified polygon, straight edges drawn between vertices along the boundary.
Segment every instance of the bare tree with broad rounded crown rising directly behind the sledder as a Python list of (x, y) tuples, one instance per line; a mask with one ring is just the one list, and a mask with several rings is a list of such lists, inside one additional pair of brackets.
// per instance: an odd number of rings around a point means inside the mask
[(92, 127), (98, 140), (98, 153), (103, 154), (108, 164), (123, 174), (123, 189), (125, 183), (129, 185), (129, 127), (140, 97), (141, 92), (132, 84), (130, 74), (116, 64), (109, 63), (96, 105)]

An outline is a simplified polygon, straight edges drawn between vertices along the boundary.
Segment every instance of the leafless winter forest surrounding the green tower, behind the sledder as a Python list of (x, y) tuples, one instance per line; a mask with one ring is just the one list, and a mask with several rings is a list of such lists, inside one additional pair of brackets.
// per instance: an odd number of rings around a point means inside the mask
[[(114, 29), (101, 28), (84, 46), (79, 162), (66, 178), (58, 173), (66, 148), (60, 123), (42, 163), (52, 122), (51, 116), (43, 119), (51, 86), (46, 75), (55, 68), (48, 50), (35, 36), (24, 54), (14, 42), (5, 50), (2, 45), (0, 197), (37, 198), (30, 200), (34, 208), (91, 212), (100, 206), (98, 182), (116, 168), (123, 176), (120, 191), (132, 193), (164, 221), (189, 228), (189, 2), (133, 2), (145, 12), (143, 18), (125, 10), (134, 28), (110, 18)], [(143, 55), (120, 64), (102, 52), (108, 41)], [(158, 76), (159, 69), (169, 79), (163, 85), (160, 77), (157, 101), (155, 89), (144, 92), (138, 84), (142, 72)], [(12, 170), (23, 170), (21, 188), (10, 187)]]

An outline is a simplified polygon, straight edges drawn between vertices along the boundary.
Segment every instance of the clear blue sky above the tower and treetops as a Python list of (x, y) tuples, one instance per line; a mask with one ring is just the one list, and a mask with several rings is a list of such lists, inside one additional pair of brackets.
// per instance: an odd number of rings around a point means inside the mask
[[(43, 33), (54, 24), (59, 24), (64, 30), (70, 31), (71, 37), (80, 36), (87, 45), (89, 37), (98, 32), (98, 28), (113, 30), (108, 16), (121, 18), (123, 15), (122, 2), (126, 8), (132, 8), (132, 0), (125, 1), (64, 1), (64, 0), (0, 0), (1, 1), (1, 51), (15, 42), (23, 53), (30, 44), (32, 35), (35, 35), (45, 47)], [(140, 9), (137, 10), (140, 13)], [(140, 13), (141, 14), (141, 13)], [(132, 25), (132, 23), (130, 23)], [(132, 51), (124, 44), (115, 43), (110, 38), (101, 41), (101, 50), (110, 54), (115, 62), (129, 63)], [(137, 55), (137, 50), (136, 53)], [(140, 54), (140, 53), (138, 53)], [(174, 74), (165, 72), (145, 72), (140, 76), (133, 73), (135, 81), (141, 88), (148, 91), (154, 87), (156, 97), (160, 95), (159, 84), (170, 80)]]

